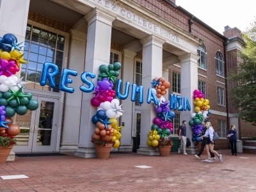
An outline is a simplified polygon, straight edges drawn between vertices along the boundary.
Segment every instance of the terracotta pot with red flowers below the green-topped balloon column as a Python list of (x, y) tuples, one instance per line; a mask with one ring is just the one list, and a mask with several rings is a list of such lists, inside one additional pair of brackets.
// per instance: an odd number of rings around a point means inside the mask
[(115, 144), (113, 141), (106, 141), (102, 138), (93, 138), (92, 143), (94, 144), (95, 154), (98, 159), (108, 159), (111, 147)]

